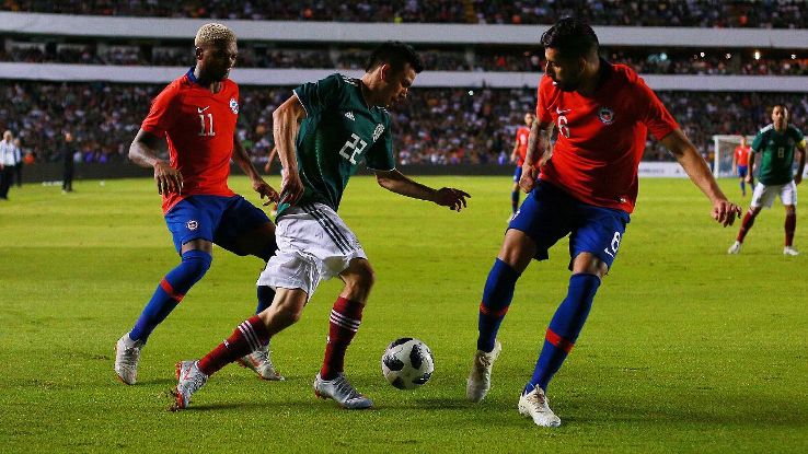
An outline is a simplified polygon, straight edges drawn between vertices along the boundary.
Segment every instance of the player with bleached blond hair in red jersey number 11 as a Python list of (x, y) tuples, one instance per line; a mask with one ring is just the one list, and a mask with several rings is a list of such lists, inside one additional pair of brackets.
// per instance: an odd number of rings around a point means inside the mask
[[(151, 331), (207, 272), (213, 243), (264, 260), (277, 248), (275, 225), (266, 213), (228, 186), (232, 159), (262, 198), (278, 198), (235, 136), (239, 86), (228, 79), (238, 57), (235, 35), (224, 25), (205, 24), (194, 45), (196, 66), (154, 98), (129, 148), (135, 163), (154, 168), (165, 222), (181, 263), (160, 281), (132, 329), (115, 345), (115, 372), (128, 385), (137, 381), (140, 350)], [(162, 140), (168, 142), (169, 162), (158, 158)], [(274, 295), (269, 287), (258, 288), (259, 312), (272, 304)], [(262, 379), (282, 379), (272, 366), (268, 346), (241, 362)]]

